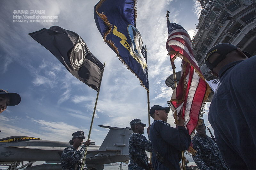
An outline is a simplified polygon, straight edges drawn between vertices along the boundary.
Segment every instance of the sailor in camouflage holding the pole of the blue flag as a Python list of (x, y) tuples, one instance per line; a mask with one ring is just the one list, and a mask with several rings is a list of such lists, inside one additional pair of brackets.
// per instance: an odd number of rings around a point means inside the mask
[[(141, 123), (140, 119), (134, 119), (130, 122), (133, 134), (129, 138), (129, 157), (130, 164), (128, 170), (148, 170), (153, 169), (151, 164), (148, 164), (148, 157), (145, 151), (152, 152), (152, 144), (148, 136), (148, 140), (144, 133), (146, 124)], [(150, 125), (147, 132), (149, 135)]]

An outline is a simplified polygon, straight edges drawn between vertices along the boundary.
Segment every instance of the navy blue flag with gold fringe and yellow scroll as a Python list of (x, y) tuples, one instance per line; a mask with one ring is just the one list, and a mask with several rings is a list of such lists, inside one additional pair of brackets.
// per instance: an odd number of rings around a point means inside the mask
[(136, 18), (136, 0), (100, 0), (94, 7), (94, 19), (104, 41), (149, 92), (147, 50)]

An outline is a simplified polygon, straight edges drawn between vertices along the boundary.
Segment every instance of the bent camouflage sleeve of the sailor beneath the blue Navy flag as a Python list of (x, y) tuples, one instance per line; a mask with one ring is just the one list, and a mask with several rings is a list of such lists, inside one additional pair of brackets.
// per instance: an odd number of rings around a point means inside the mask
[(135, 134), (134, 144), (138, 145), (140, 148), (148, 152), (153, 152), (153, 147), (150, 140), (140, 134)]

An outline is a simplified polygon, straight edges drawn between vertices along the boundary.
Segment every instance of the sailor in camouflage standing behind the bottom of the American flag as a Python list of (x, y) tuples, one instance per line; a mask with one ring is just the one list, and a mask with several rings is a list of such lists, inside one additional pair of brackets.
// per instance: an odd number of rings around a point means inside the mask
[(196, 129), (196, 136), (192, 139), (193, 148), (197, 151), (192, 155), (200, 170), (229, 170), (215, 141), (206, 135), (204, 119), (202, 125)]

